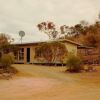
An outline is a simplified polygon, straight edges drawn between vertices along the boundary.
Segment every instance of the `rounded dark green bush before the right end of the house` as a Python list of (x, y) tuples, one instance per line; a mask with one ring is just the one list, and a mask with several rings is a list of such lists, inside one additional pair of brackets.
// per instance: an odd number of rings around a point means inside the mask
[(80, 72), (82, 69), (82, 61), (79, 57), (69, 54), (67, 57), (67, 67), (69, 72)]

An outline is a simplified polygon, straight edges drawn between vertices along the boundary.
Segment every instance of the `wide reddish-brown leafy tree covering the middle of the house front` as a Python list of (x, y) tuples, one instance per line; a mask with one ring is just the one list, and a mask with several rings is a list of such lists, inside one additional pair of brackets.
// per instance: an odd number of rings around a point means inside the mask
[(66, 56), (66, 47), (60, 42), (41, 44), (35, 53), (35, 58), (45, 63), (64, 63)]

